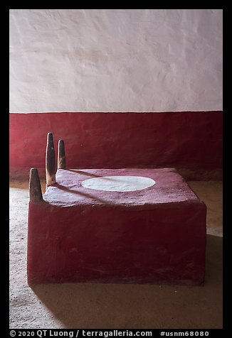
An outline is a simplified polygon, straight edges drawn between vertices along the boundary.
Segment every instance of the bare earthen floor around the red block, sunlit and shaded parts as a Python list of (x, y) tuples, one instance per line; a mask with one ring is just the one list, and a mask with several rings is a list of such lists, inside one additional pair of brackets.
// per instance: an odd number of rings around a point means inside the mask
[[(28, 182), (10, 182), (11, 329), (222, 328), (222, 184), (189, 182), (207, 206), (201, 287), (26, 280)], [(44, 191), (45, 184), (42, 182)]]

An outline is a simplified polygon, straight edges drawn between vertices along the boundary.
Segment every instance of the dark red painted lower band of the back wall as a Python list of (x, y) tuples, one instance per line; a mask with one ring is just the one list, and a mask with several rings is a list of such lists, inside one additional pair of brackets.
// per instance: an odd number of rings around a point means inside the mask
[(222, 167), (222, 111), (10, 114), (10, 175), (45, 171), (46, 136), (67, 168)]

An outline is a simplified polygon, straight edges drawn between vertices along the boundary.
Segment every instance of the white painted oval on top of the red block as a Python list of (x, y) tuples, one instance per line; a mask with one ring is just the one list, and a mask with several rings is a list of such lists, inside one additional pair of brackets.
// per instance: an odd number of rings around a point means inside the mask
[(142, 176), (104, 176), (84, 180), (81, 185), (93, 190), (136, 191), (152, 187), (155, 181)]

